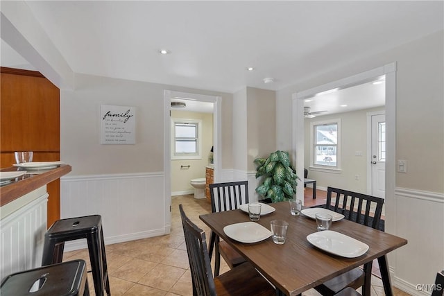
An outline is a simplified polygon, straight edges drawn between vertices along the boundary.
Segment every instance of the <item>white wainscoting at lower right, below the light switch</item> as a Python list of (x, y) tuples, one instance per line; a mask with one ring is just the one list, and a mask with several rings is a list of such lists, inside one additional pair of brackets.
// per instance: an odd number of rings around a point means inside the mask
[(430, 295), (417, 287), (433, 284), (444, 268), (444, 194), (397, 188), (394, 214), (391, 229), (408, 243), (388, 258), (393, 285), (411, 295)]

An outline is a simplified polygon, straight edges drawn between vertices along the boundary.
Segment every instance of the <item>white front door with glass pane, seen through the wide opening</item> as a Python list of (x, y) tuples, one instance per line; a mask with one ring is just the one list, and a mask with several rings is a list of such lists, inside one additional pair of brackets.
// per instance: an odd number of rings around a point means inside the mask
[(386, 116), (371, 116), (371, 195), (385, 198), (386, 191)]

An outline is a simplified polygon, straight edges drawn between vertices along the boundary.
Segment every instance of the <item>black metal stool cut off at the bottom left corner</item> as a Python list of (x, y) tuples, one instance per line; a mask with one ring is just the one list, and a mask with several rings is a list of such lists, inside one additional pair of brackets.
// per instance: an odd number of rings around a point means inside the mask
[(0, 286), (1, 296), (89, 296), (84, 260), (67, 261), (9, 275)]

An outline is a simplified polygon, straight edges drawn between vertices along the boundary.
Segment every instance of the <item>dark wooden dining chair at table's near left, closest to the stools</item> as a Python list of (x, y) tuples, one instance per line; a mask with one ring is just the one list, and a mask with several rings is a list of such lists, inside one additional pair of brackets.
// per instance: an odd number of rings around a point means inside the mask
[(182, 204), (179, 204), (179, 211), (187, 245), (193, 295), (276, 295), (273, 286), (250, 263), (238, 265), (213, 278), (205, 232), (189, 220)]

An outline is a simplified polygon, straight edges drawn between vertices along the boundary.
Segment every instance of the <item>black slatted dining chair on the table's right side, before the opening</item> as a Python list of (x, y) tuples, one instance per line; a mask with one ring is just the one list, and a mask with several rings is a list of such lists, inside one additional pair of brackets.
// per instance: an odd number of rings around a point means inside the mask
[[(345, 219), (366, 225), (374, 229), (379, 228), (384, 199), (375, 196), (327, 187), (326, 209), (343, 214)], [(381, 262), (385, 264), (386, 257), (383, 256)], [(379, 261), (379, 259), (378, 259)], [(382, 264), (381, 264), (382, 265)], [(384, 273), (384, 266), (381, 273)], [(386, 270), (388, 276), (388, 270)], [(343, 273), (323, 284), (314, 287), (319, 293), (325, 296), (332, 296), (345, 288), (357, 289), (362, 286), (362, 295), (370, 296), (370, 282), (372, 275), (372, 261), (364, 264), (364, 268), (355, 268)], [(388, 283), (389, 285), (389, 283)], [(386, 284), (384, 284), (386, 288)], [(350, 291), (349, 291), (350, 292)]]

